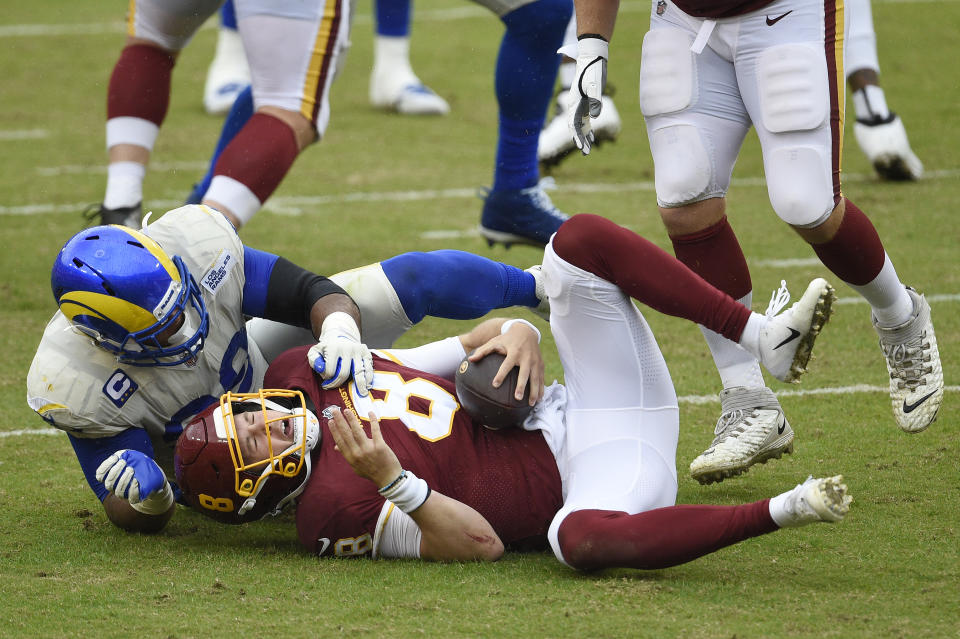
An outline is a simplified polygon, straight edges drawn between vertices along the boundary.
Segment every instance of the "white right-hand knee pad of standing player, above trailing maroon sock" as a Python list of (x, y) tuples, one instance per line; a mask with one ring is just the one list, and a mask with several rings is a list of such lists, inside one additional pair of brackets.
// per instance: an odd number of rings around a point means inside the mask
[(787, 224), (814, 227), (833, 210), (830, 158), (820, 147), (781, 147), (766, 159), (767, 194)]

